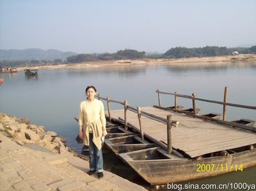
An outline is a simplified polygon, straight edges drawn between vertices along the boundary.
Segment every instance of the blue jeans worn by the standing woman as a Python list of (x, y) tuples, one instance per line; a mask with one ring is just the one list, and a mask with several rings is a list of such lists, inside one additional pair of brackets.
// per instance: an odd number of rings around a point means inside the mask
[(90, 171), (102, 172), (103, 171), (103, 157), (102, 148), (99, 150), (92, 141), (93, 134), (89, 134), (89, 163)]

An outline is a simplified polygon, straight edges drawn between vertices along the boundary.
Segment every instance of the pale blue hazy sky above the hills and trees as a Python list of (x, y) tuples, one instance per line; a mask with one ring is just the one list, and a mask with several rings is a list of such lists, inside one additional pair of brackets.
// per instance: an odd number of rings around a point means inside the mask
[(255, 10), (255, 0), (0, 0), (0, 49), (251, 47)]

